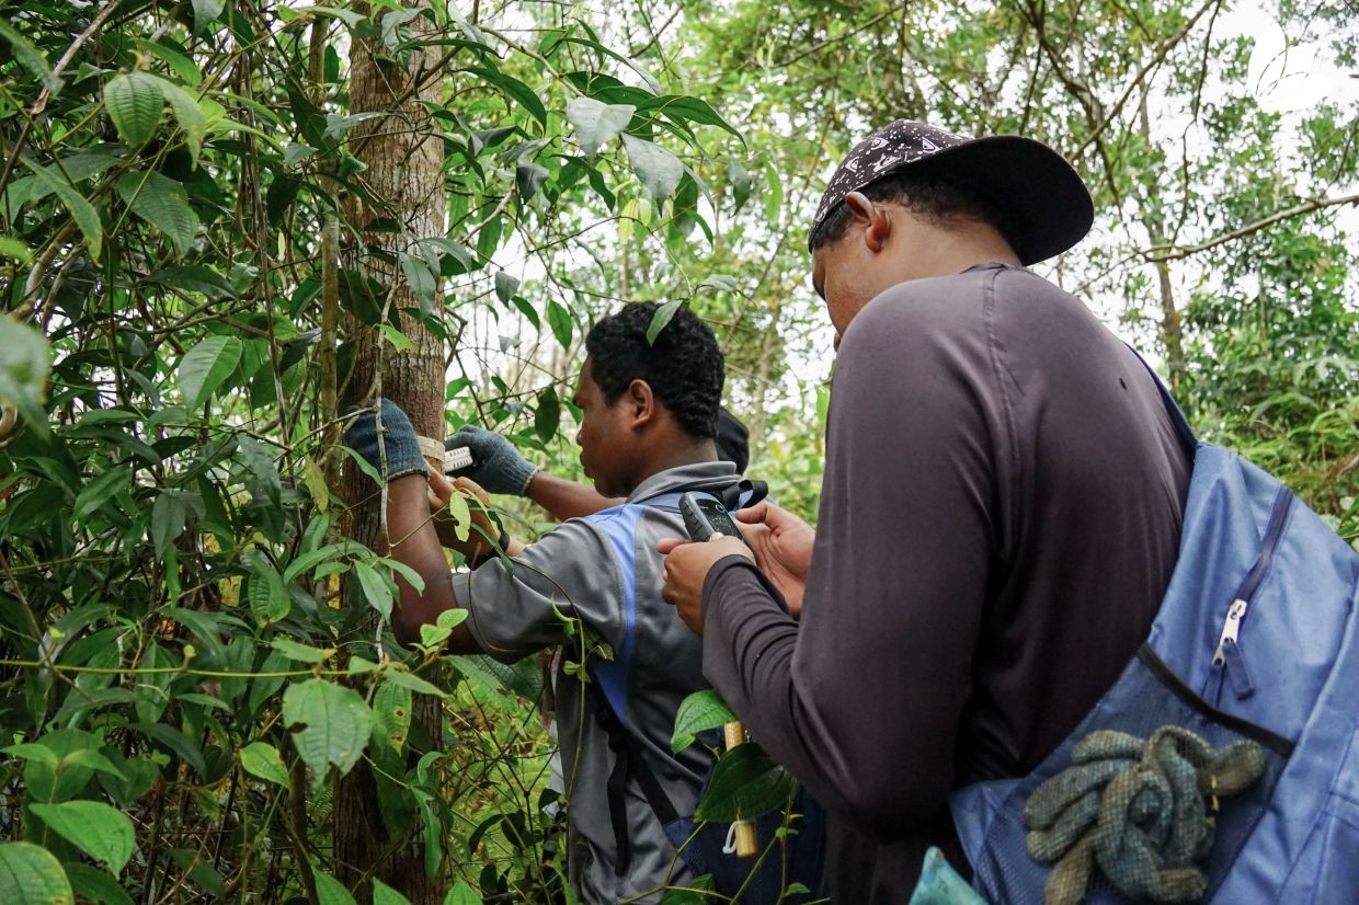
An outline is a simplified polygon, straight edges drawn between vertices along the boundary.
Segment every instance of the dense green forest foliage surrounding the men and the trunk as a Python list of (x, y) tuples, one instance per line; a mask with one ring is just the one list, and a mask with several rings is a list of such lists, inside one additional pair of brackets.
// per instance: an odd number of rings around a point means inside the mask
[[(1099, 223), (1044, 273), (1359, 538), (1359, 99), (1280, 107), (1219, 0), (0, 10), (3, 902), (400, 902), (410, 845), (435, 901), (568, 900), (538, 666), (395, 645), (400, 567), (349, 539), (356, 360), (428, 330), (447, 425), (569, 476), (591, 319), (693, 304), (752, 473), (814, 516), (805, 221), (898, 116), (1068, 154)], [(1359, 67), (1352, 8), (1269, 12)], [(353, 110), (361, 48), (419, 117)], [(439, 223), (366, 175), (404, 129), (438, 137)], [(332, 847), (356, 764), (370, 866)]]

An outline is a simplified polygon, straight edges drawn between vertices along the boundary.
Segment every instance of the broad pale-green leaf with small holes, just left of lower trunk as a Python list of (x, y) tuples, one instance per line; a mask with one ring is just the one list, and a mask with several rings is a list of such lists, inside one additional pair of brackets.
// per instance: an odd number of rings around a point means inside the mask
[(315, 678), (289, 685), (283, 693), (283, 722), (319, 787), (329, 764), (342, 776), (359, 762), (372, 713), (352, 688)]

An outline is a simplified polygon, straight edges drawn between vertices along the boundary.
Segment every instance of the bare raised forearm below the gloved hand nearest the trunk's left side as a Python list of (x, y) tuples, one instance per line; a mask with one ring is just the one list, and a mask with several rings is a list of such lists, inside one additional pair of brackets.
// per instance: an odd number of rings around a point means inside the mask
[[(448, 582), (448, 563), (429, 518), (423, 476), (408, 474), (387, 485), (387, 537), (391, 558), (409, 565), (424, 580), (424, 591), (417, 591), (400, 573), (395, 576), (401, 599), (391, 614), (391, 628), (398, 640), (410, 644), (420, 640), (421, 625), (432, 625), (440, 613), (458, 606)], [(454, 629), (447, 650), (450, 654), (480, 651), (465, 625)]]

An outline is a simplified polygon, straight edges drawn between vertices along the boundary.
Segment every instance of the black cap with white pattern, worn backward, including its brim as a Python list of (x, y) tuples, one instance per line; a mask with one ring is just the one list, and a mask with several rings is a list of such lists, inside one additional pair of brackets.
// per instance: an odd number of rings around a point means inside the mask
[(1003, 208), (1006, 238), (1027, 266), (1080, 242), (1094, 221), (1084, 182), (1060, 154), (1033, 139), (998, 135), (972, 139), (915, 120), (897, 120), (853, 147), (826, 183), (811, 219), (807, 245), (851, 192), (909, 171), (970, 183)]

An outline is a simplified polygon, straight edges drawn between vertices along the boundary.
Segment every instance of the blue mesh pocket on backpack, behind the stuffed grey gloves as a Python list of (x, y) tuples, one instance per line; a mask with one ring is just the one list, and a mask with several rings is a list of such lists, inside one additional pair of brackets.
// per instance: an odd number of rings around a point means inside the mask
[[(1011, 905), (1027, 905), (1030, 902), (1038, 905), (1044, 901), (1044, 887), (1053, 872), (1053, 867), (1049, 863), (1034, 860), (1026, 848), (1029, 826), (1025, 821), (1025, 806), (1034, 791), (1044, 783), (1072, 766), (1072, 753), (1083, 739), (1087, 739), (1091, 732), (1101, 730), (1125, 732), (1140, 739), (1147, 739), (1167, 726), (1192, 732), (1218, 751), (1229, 750), (1230, 746), (1243, 741), (1258, 743), (1258, 750), (1263, 751), (1263, 772), (1257, 780), (1231, 798), (1207, 798), (1205, 813), (1207, 822), (1211, 823), (1211, 830), (1208, 833), (1199, 833), (1200, 841), (1207, 847), (1207, 855), (1201, 860), (1189, 862), (1192, 864), (1190, 871), (1197, 870), (1201, 872), (1201, 876), (1193, 876), (1192, 874), (1171, 875), (1158, 871), (1154, 878), (1155, 882), (1201, 883), (1204, 898), (1211, 898), (1241, 847), (1250, 836), (1260, 815), (1264, 813), (1292, 746), (1287, 739), (1263, 727), (1215, 711), (1170, 673), (1150, 647), (1143, 647), (1137, 658), (1124, 670), (1113, 689), (1101, 698), (1099, 704), (1086, 716), (1068, 739), (1038, 769), (1017, 780), (1004, 795), (998, 811), (987, 825), (983, 844), (974, 847), (973, 882), (988, 901)], [(1176, 730), (1170, 732), (1174, 734)], [(1051, 791), (1049, 787), (1048, 792)], [(1095, 796), (1095, 800), (1102, 811), (1106, 800), (1098, 796)], [(1112, 810), (1110, 813), (1123, 814), (1121, 810)], [(1074, 817), (1079, 818), (1082, 815), (1075, 814)], [(1127, 836), (1132, 840), (1128, 845), (1135, 848), (1148, 848), (1150, 845), (1150, 851), (1152, 852), (1151, 855), (1142, 855), (1140, 862), (1137, 862), (1137, 857), (1133, 857), (1139, 852), (1125, 852), (1132, 862), (1143, 866), (1158, 864), (1159, 853), (1178, 851), (1170, 841), (1173, 821), (1166, 823), (1163, 819), (1148, 814), (1147, 809), (1140, 807), (1136, 799), (1127, 810), (1127, 815), (1120, 819), (1125, 819), (1129, 830), (1135, 830), (1136, 833)], [(1201, 830), (1203, 828), (1195, 825), (1193, 829)], [(1074, 834), (1074, 837), (1084, 840), (1086, 834), (1079, 833)], [(1105, 852), (1112, 848), (1108, 838), (1101, 841), (1102, 851)], [(1165, 848), (1157, 848), (1162, 844), (1165, 844)], [(1094, 837), (1090, 837), (1089, 851), (1094, 851)], [(1120, 847), (1120, 852), (1123, 851), (1123, 847)], [(1078, 856), (1083, 853), (1078, 852)], [(1200, 848), (1197, 853), (1203, 855), (1203, 849)], [(1072, 863), (1079, 860), (1078, 856), (1074, 856)], [(1053, 860), (1061, 863), (1060, 857)], [(1065, 864), (1063, 870), (1070, 871), (1072, 863)], [(1090, 872), (1086, 897), (1080, 901), (1087, 904), (1131, 901), (1118, 893), (1105, 871), (1101, 870), (1098, 860), (1091, 856), (1090, 863), (1095, 867)], [(1121, 857), (1110, 857), (1109, 863), (1113, 866), (1113, 872), (1128, 867), (1127, 859)], [(1161, 866), (1165, 867), (1163, 863)], [(1127, 870), (1124, 870), (1124, 874), (1127, 875)], [(1136, 871), (1135, 874), (1136, 876), (1143, 876), (1143, 874)]]

